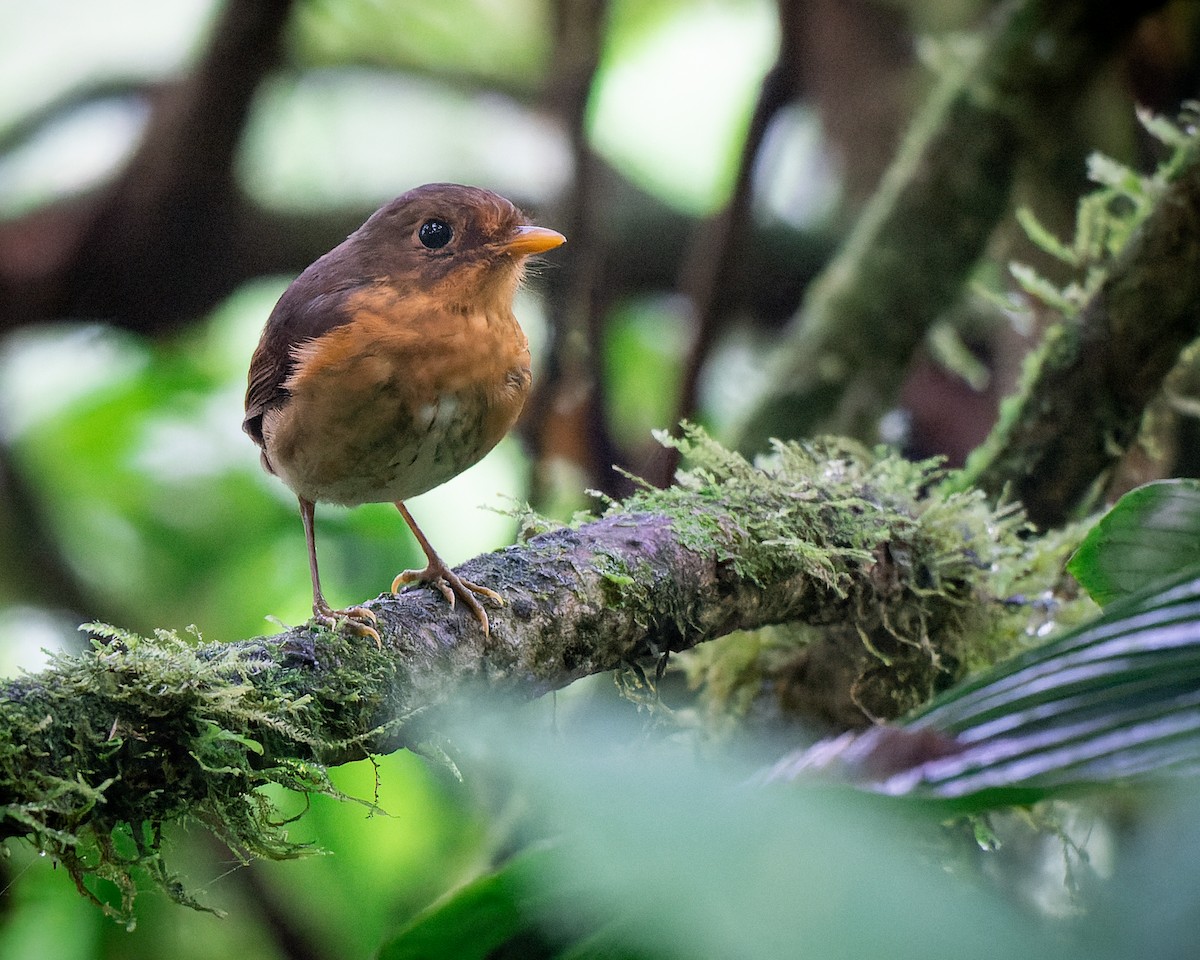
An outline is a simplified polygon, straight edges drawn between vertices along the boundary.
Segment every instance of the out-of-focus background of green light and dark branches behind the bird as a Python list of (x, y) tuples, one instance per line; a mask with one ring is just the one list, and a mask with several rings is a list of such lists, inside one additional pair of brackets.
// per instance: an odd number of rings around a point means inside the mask
[[(246, 367), (289, 280), (416, 184), (487, 186), (570, 240), (518, 302), (535, 359), (528, 415), (412, 504), (445, 559), (511, 542), (514, 502), (565, 518), (593, 503), (588, 490), (619, 494), (613, 464), (668, 478), (650, 431), (686, 414), (720, 434), (754, 406), (781, 325), (940, 58), (992, 6), (0, 0), (0, 674), (76, 648), (91, 619), (194, 625), (210, 641), (306, 619), (294, 498), (240, 431)], [(1142, 155), (1134, 100), (1166, 108), (1189, 88), (1192, 6), (1168, 5), (1099, 72), (1021, 191), (1051, 227), (1069, 222), (1091, 149)], [(750, 164), (744, 276), (698, 337), (706, 238), (737, 190), (787, 17), (803, 28), (800, 82)], [(236, 70), (208, 78), (206, 100), (199, 66), (221, 62), (222, 42)], [(172, 115), (197, 126), (181, 134)], [(996, 238), (992, 278), (1016, 252), (1037, 262), (1022, 242)], [(913, 452), (960, 460), (1028, 343), (1007, 320), (968, 330), (982, 382), (947, 374), (936, 350), (913, 365), (892, 437)], [(419, 560), (390, 506), (319, 509), (318, 530), (334, 604), (374, 596)], [(553, 709), (534, 708), (547, 724)], [(410, 754), (332, 778), (388, 814), (313, 798), (292, 833), (322, 856), (247, 866), (199, 827), (173, 836), (176, 869), (223, 920), (149, 893), (127, 932), (13, 846), (0, 958), (370, 956), (502, 859), (520, 818)]]

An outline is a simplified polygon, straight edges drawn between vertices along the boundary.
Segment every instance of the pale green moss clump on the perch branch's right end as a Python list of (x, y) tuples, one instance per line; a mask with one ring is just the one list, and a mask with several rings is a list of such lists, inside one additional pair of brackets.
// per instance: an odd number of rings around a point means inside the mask
[[(643, 490), (625, 509), (672, 516), (698, 547), (724, 535), (748, 577), (799, 564), (839, 601), (824, 626), (733, 634), (680, 658), (710, 719), (745, 716), (764, 698), (775, 701), (767, 715), (811, 701), (791, 685), (809, 678), (814, 644), (840, 652), (848, 671), (845, 702), (824, 704), (826, 719), (896, 716), (1021, 648), (1075, 604), (1048, 584), (1076, 538), (1030, 536), (1016, 506), (947, 485), (934, 461), (823, 440), (776, 443), (751, 464), (694, 427), (666, 442), (688, 457), (679, 488)], [(688, 503), (680, 491), (709, 493), (724, 521), (715, 510), (673, 512)]]

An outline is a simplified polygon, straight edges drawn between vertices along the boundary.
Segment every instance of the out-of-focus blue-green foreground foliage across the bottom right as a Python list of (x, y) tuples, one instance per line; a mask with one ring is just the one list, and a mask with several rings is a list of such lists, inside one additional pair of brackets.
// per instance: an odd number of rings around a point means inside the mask
[[(1194, 947), (1194, 784), (1117, 800), (1147, 806), (1128, 836), (1103, 802), (947, 829), (936, 808), (847, 786), (764, 786), (746, 743), (737, 761), (700, 761), (624, 724), (547, 738), (478, 716), (461, 743), (469, 768), (521, 785), (530, 841), (552, 840), (431, 907), (385, 946), (390, 960), (475, 955), (450, 944), (485, 917), (494, 926), (472, 942), (488, 955), (572, 960), (1118, 960)], [(976, 842), (1001, 838), (1010, 852)], [(1043, 841), (1019, 889), (982, 882), (980, 868), (995, 880)], [(1057, 906), (1031, 908), (1038, 898)]]

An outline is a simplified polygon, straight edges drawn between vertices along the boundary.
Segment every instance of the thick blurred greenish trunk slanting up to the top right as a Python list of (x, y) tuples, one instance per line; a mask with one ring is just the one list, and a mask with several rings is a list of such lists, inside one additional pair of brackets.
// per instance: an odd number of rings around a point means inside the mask
[(1069, 124), (1088, 82), (1162, 0), (1022, 0), (942, 80), (839, 257), (812, 284), (740, 445), (874, 439), (908, 361), (1008, 209), (1018, 161)]

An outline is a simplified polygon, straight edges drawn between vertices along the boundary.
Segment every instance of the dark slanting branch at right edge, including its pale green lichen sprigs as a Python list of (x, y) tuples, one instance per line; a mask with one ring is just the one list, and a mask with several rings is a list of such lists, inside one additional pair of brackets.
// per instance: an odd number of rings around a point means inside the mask
[[(1062, 244), (1026, 216), (1031, 236), (1080, 270), (1063, 290), (1032, 271), (1026, 292), (1063, 317), (1026, 360), (1016, 394), (958, 478), (1012, 492), (1043, 527), (1062, 523), (1138, 439), (1150, 403), (1200, 335), (1200, 134), (1196, 104), (1175, 125), (1140, 114), (1169, 148), (1153, 175), (1093, 157), (1099, 188)], [(1063, 426), (1069, 425), (1069, 430)]]

